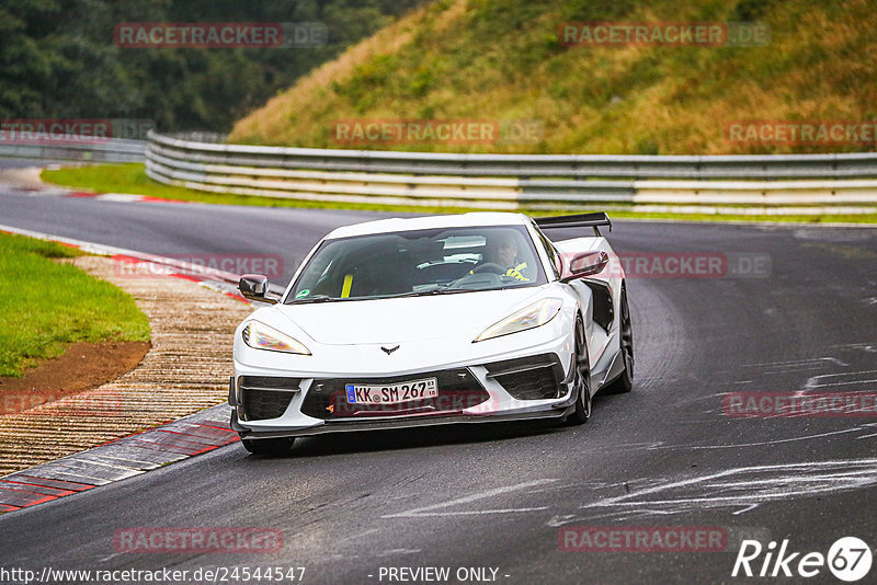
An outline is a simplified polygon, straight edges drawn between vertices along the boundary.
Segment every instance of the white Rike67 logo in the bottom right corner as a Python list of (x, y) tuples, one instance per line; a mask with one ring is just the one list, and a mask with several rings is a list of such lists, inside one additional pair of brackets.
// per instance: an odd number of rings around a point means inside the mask
[[(864, 540), (856, 537), (838, 539), (827, 555), (821, 552), (791, 552), (788, 540), (776, 548), (771, 541), (763, 547), (758, 540), (743, 540), (731, 576), (748, 577), (798, 576), (815, 577), (828, 566), (829, 571), (841, 581), (853, 583), (862, 580), (870, 571), (872, 551)], [(763, 553), (763, 558), (762, 558)]]

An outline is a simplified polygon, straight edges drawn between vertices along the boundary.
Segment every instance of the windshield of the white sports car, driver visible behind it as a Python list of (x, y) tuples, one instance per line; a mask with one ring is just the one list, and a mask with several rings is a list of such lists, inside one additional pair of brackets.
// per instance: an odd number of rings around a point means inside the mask
[(523, 226), (399, 231), (324, 241), (285, 302), (455, 294), (545, 282)]

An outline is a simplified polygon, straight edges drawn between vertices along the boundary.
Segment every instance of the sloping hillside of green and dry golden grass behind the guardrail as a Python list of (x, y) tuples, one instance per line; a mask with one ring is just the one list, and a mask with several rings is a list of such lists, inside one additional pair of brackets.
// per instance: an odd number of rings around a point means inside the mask
[[(734, 46), (565, 46), (565, 22), (760, 22)], [(877, 11), (865, 0), (440, 0), (408, 14), (236, 124), (230, 141), (345, 148), (337, 121), (537, 121), (509, 144), (356, 148), (582, 153), (874, 150), (729, 140), (739, 121), (877, 119)], [(865, 141), (862, 141), (865, 139)]]

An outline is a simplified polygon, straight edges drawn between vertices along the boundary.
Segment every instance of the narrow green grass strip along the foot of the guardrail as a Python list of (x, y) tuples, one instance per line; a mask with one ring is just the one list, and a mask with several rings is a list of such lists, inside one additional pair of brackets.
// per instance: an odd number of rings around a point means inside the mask
[[(360, 209), (389, 213), (419, 213), (419, 214), (456, 214), (465, 211), (483, 211), (472, 207), (421, 207), (419, 205), (381, 205), (340, 202), (312, 202), (306, 199), (278, 199), (274, 197), (255, 197), (250, 195), (230, 195), (224, 193), (205, 193), (185, 187), (162, 185), (146, 175), (140, 163), (128, 164), (101, 164), (94, 167), (64, 168), (46, 170), (41, 175), (44, 181), (71, 188), (83, 188), (98, 193), (130, 193), (148, 195), (164, 199), (179, 199), (220, 205), (251, 205), (259, 207), (298, 207), (317, 209)], [(617, 205), (617, 204), (614, 204)], [(581, 209), (553, 211), (521, 209), (533, 216), (560, 215), (563, 213), (582, 213)], [(601, 210), (600, 205), (594, 205), (594, 210)], [(610, 211), (616, 219), (674, 219), (692, 221), (783, 221), (801, 223), (877, 223), (877, 213), (861, 215), (745, 215), (745, 214), (673, 214), (673, 213), (635, 213)]]

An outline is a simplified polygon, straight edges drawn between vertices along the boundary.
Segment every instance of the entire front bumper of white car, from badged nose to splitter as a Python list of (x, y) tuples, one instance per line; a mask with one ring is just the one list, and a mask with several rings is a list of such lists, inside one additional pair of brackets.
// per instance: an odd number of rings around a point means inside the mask
[[(310, 347), (296, 356), (252, 349), (236, 339), (229, 404), (242, 437), (295, 437), (562, 417), (574, 403), (574, 314), (474, 344), (468, 336), (379, 345)], [(394, 405), (351, 405), (348, 385), (436, 378), (438, 395)], [(253, 392), (254, 390), (254, 392)], [(389, 410), (386, 406), (391, 406)]]

